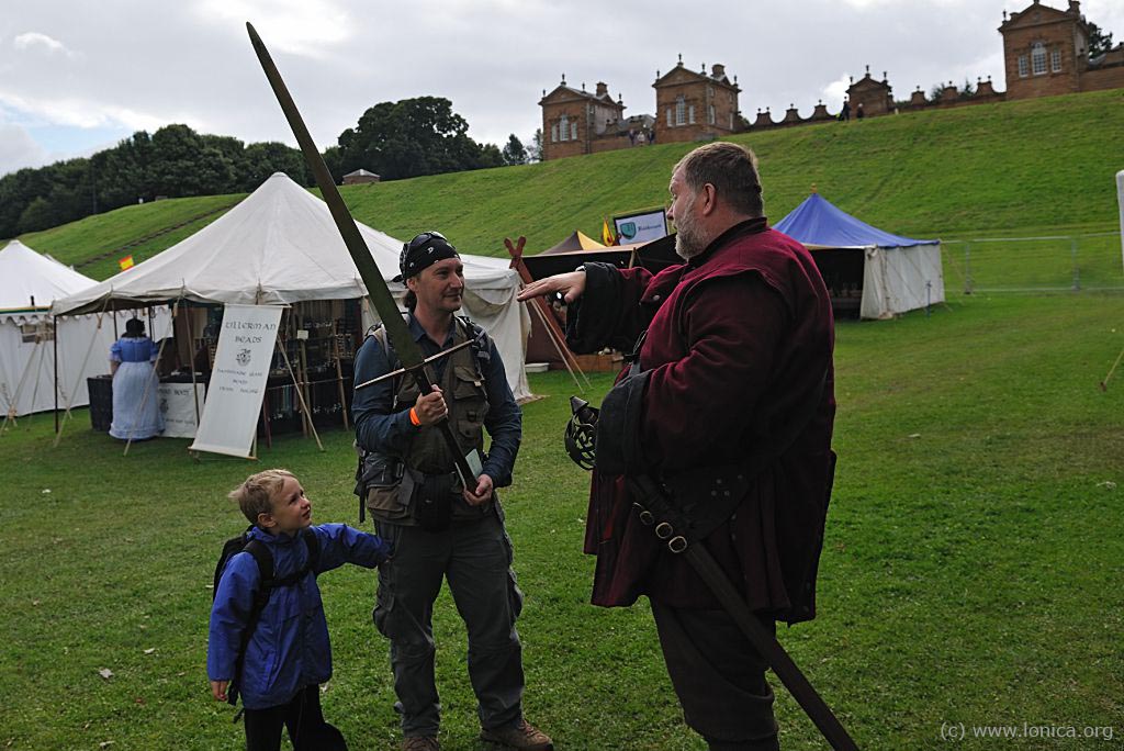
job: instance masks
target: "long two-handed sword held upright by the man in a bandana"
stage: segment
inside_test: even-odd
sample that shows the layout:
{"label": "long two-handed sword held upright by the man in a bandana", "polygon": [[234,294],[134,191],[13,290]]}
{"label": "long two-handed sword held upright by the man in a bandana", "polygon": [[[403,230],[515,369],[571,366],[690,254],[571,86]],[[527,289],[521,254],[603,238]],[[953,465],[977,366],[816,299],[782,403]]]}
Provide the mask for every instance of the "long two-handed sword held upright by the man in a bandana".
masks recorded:
{"label": "long two-handed sword held upright by the man in a bandana", "polygon": [[[336,190],[336,183],[332,179],[328,165],[324,163],[324,157],[320,156],[320,152],[316,148],[312,136],[309,135],[308,128],[305,126],[305,120],[297,110],[297,105],[289,94],[289,90],[285,88],[277,65],[273,64],[273,58],[270,57],[270,53],[262,43],[262,38],[257,36],[257,31],[254,30],[253,25],[248,21],[246,22],[246,30],[250,33],[250,40],[254,45],[257,61],[262,64],[262,70],[265,71],[265,78],[269,79],[270,85],[273,87],[273,93],[278,98],[278,103],[281,105],[281,111],[284,112],[285,119],[289,120],[289,127],[292,128],[292,134],[297,136],[297,143],[300,144],[300,151],[305,154],[305,161],[308,162],[309,169],[312,170],[316,184],[320,188],[320,196],[324,198],[324,202],[328,205],[332,218],[335,219],[336,228],[339,229],[339,235],[344,239],[344,245],[347,246],[347,252],[351,253],[352,261],[355,262],[355,268],[359,269],[359,275],[366,287],[368,298],[379,313],[382,325],[387,328],[387,337],[395,346],[395,353],[402,363],[402,371],[414,378],[422,393],[429,393],[433,390],[433,381],[429,379],[429,373],[426,370],[426,359],[422,354],[422,349],[418,347],[417,342],[410,336],[409,328],[407,328],[406,322],[402,320],[402,316],[398,310],[398,305],[390,295],[390,288],[387,287],[386,280],[379,273],[379,266],[374,263],[374,259],[371,257],[371,251],[363,241],[359,227],[355,226],[355,219],[352,217],[351,211],[347,210],[347,206],[339,196],[339,191]],[[446,350],[443,354],[447,354],[448,352],[451,351]],[[437,428],[453,452],[453,456],[455,456],[456,472],[461,477],[461,482],[465,488],[475,488],[475,480],[473,479],[475,478],[475,472],[469,467],[469,462],[464,458],[460,444],[456,442],[456,436],[453,435],[453,428],[448,424],[447,417],[442,418],[437,423]]]}

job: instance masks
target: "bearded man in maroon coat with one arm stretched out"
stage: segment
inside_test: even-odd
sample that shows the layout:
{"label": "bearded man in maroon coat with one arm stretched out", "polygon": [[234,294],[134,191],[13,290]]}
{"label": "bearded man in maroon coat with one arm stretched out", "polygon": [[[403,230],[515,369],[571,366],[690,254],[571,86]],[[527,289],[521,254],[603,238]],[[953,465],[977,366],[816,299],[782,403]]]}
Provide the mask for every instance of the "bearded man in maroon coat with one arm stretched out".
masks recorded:
{"label": "bearded man in maroon coat with one arm stretched out", "polygon": [[[701,544],[768,628],[813,618],[833,471],[831,302],[808,251],[769,228],[752,152],[700,146],[676,165],[670,191],[685,263],[656,275],[587,263],[520,299],[562,293],[578,352],[629,351],[646,331],[598,427],[592,601],[649,597],[687,723],[710,749],[777,749],[764,661],[691,565],[641,523],[625,476],[695,488],[678,500],[701,517],[722,501],[708,472],[744,467],[747,481]],[[629,407],[607,420],[610,401]]]}

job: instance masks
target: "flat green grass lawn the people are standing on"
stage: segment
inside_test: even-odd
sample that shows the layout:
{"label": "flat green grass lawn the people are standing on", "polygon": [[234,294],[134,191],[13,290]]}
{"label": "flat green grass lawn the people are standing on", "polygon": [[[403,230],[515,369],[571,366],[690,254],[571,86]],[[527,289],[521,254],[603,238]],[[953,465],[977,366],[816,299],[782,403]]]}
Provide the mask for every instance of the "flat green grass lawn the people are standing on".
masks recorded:
{"label": "flat green grass lawn the people are standing on", "polygon": [[[840,323],[835,495],[819,617],[780,639],[863,749],[944,745],[944,723],[1114,726],[1124,735],[1124,298],[950,295],[926,317]],[[597,376],[598,397],[608,387]],[[560,749],[701,749],[680,720],[646,605],[588,605],[588,476],[564,455],[565,373],[532,376],[516,485],[504,496],[526,591],[528,718]],[[596,400],[596,399],[595,399]],[[49,415],[0,435],[0,748],[237,748],[205,673],[211,572],[243,526],[225,494],[281,465],[318,522],[356,521],[351,435],[284,437],[261,462],[185,441],[127,456],[84,410],[52,449]],[[352,748],[398,741],[375,578],[320,579],[336,675],[327,716]],[[480,749],[463,627],[436,614],[443,741]],[[99,670],[112,671],[102,678]],[[778,688],[786,750],[824,748]],[[103,745],[112,742],[112,745]]]}

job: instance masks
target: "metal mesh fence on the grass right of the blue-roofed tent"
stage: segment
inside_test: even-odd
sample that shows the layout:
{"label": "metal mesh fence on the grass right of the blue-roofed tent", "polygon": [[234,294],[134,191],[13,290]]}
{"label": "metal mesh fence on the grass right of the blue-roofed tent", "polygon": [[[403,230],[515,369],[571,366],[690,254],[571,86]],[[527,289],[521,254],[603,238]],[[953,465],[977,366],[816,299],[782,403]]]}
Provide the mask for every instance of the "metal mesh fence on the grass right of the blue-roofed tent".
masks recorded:
{"label": "metal mesh fence on the grass right of the blue-roofed tent", "polygon": [[1118,232],[942,239],[941,252],[949,295],[1124,290]]}

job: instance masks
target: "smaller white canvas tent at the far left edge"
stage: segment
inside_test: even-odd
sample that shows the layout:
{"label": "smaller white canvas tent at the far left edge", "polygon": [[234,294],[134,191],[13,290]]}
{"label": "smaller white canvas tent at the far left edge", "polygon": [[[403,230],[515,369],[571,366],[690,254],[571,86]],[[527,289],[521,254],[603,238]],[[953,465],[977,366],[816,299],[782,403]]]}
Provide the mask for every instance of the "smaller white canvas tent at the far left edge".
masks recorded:
{"label": "smaller white canvas tent at the far left edge", "polygon": [[49,308],[94,284],[18,239],[0,251],[0,414],[55,408],[56,356],[58,406],[90,402],[85,379],[109,371],[112,319],[83,315],[52,322]]}

